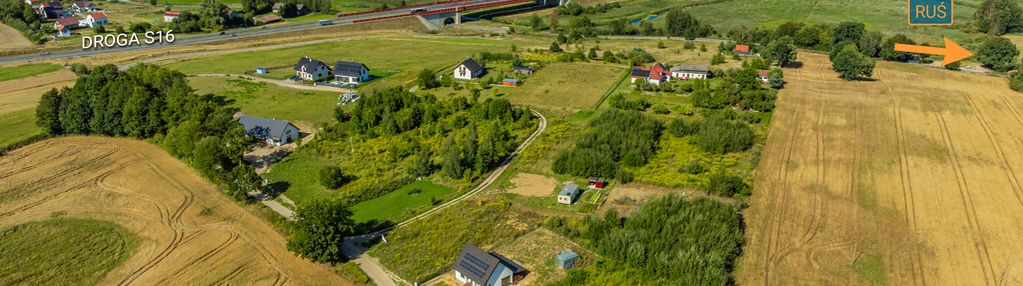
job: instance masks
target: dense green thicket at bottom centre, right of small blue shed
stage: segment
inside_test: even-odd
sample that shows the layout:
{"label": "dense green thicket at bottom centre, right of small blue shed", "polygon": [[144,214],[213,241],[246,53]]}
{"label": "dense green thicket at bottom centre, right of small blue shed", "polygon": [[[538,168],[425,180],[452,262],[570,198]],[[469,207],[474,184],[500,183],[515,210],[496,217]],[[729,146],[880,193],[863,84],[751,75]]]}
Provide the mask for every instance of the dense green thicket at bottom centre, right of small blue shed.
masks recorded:
{"label": "dense green thicket at bottom centre, right of small blue shed", "polygon": [[[582,225],[573,232],[577,238],[614,261],[570,271],[559,285],[592,285],[608,281],[608,273],[623,271],[632,272],[629,281],[652,284],[735,284],[731,272],[743,244],[742,220],[735,206],[667,195],[628,218],[612,209],[604,218],[585,219]],[[608,267],[616,263],[627,267]]]}

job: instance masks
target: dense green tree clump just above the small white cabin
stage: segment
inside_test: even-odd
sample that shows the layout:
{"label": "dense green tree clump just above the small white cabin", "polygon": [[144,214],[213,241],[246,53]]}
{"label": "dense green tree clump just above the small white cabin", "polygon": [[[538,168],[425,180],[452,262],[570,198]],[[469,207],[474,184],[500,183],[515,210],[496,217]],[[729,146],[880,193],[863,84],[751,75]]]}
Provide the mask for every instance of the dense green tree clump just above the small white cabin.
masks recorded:
{"label": "dense green tree clump just above the small white cabin", "polygon": [[621,166],[640,166],[657,152],[661,123],[639,111],[612,108],[590,123],[575,147],[558,154],[553,171],[631,181]]}

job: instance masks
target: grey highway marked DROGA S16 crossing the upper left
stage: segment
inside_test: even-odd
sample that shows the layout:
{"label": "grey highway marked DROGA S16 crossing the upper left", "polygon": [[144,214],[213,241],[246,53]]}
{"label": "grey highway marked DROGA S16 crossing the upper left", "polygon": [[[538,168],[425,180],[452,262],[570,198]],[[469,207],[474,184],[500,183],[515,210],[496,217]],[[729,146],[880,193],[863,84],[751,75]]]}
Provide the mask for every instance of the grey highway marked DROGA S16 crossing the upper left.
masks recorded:
{"label": "grey highway marked DROGA S16 crossing the upper left", "polygon": [[[457,8],[461,6],[470,6],[477,4],[488,4],[501,1],[503,0],[465,0],[458,2],[443,2],[437,4],[429,4],[419,6],[417,8],[424,8],[430,11],[430,10]],[[153,44],[153,45],[131,46],[124,48],[103,48],[103,49],[88,49],[88,50],[73,49],[73,50],[51,51],[46,54],[13,55],[13,56],[0,57],[0,63],[18,62],[18,61],[37,61],[37,60],[48,60],[48,59],[58,59],[58,58],[76,58],[76,57],[121,53],[127,51],[139,51],[139,50],[147,50],[155,48],[173,47],[173,46],[210,44],[210,43],[217,43],[217,42],[235,40],[241,38],[252,38],[252,37],[267,36],[280,33],[323,29],[332,26],[347,26],[347,25],[352,25],[359,20],[372,19],[379,17],[411,15],[409,13],[409,9],[410,8],[396,8],[391,10],[372,11],[355,15],[337,17],[333,19],[333,23],[330,26],[321,26],[318,21],[305,21],[305,22],[285,23],[272,27],[263,26],[263,27],[232,29],[224,31],[224,35],[219,35],[219,33],[209,33],[209,34],[202,34],[194,36],[184,35],[175,39],[174,43],[167,43],[167,44]],[[142,35],[139,35],[139,37],[142,38]]]}

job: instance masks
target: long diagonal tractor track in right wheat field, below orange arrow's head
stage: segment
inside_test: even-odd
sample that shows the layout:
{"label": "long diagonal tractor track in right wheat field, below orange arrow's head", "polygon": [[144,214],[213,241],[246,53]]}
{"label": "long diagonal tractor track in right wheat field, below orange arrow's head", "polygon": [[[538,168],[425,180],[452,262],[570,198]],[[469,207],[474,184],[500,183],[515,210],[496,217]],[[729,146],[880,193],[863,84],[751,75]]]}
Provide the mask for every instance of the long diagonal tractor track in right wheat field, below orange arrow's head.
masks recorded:
{"label": "long diagonal tractor track in right wheat field, below orange arrow's head", "polygon": [[955,181],[960,190],[960,199],[963,202],[963,208],[966,211],[967,222],[972,230],[971,239],[974,240],[974,249],[977,250],[977,259],[980,263],[981,272],[984,274],[984,285],[990,285],[991,280],[994,276],[994,269],[991,267],[991,257],[988,254],[987,244],[983,239],[983,228],[980,226],[980,221],[977,220],[977,209],[973,203],[973,196],[970,193],[970,188],[966,182],[966,175],[963,173],[963,164],[960,161],[959,153],[955,150],[955,146],[952,144],[951,134],[948,132],[948,126],[945,123],[945,118],[942,114],[937,113],[935,116],[938,120],[938,126],[941,127],[941,135],[944,137],[945,147],[948,148],[949,161],[951,162],[952,171],[955,174]]}

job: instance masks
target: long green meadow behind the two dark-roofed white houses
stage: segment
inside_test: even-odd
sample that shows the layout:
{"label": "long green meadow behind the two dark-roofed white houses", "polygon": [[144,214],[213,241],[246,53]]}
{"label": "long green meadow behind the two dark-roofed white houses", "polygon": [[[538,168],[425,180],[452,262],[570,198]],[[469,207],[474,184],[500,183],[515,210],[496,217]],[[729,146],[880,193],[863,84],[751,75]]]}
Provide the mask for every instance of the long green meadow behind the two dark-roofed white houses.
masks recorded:
{"label": "long green meadow behind the two dark-roofed white houses", "polygon": [[[299,58],[310,56],[333,65],[338,60],[365,63],[370,70],[389,70],[393,76],[374,80],[366,87],[402,85],[424,68],[454,65],[476,53],[506,52],[513,42],[494,39],[374,38],[344,40],[301,47],[216,55],[168,64],[185,74],[244,74],[256,67],[270,69],[269,78],[286,79]],[[372,72],[371,72],[372,73]],[[387,75],[384,75],[387,76]]]}

